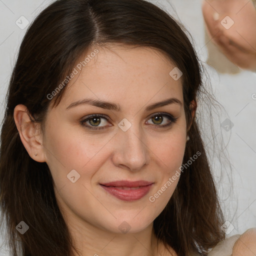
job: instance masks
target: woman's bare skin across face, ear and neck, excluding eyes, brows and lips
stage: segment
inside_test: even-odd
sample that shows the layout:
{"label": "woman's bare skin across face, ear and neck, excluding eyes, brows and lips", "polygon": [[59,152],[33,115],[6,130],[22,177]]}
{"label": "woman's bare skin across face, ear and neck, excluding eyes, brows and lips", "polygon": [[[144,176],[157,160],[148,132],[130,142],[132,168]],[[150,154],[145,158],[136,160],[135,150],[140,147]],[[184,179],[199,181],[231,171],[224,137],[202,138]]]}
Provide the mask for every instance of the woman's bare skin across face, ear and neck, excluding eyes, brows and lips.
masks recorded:
{"label": "woman's bare skin across face, ear and neck, excluding eyes, brows and lips", "polygon": [[[169,72],[175,65],[148,47],[112,44],[97,49],[96,57],[71,80],[59,105],[49,108],[44,133],[39,124],[31,123],[24,105],[15,107],[14,120],[21,141],[31,158],[49,166],[58,206],[81,255],[170,255],[163,251],[161,243],[156,250],[152,225],[178,178],[154,202],[149,201],[149,196],[182,164],[189,129],[183,108],[182,76],[172,79]],[[66,109],[87,97],[114,102],[121,110],[88,104]],[[171,103],[145,110],[149,104],[170,97],[179,99],[181,105]],[[191,103],[194,115],[196,103]],[[151,119],[156,112],[169,113],[177,120],[161,128],[169,119],[162,116],[162,123],[157,123]],[[80,120],[89,114],[109,117],[109,121],[102,118],[97,123],[105,128],[82,126]],[[123,118],[131,123],[125,132],[117,125]],[[80,174],[74,183],[67,178],[72,169]],[[154,184],[146,196],[131,202],[112,196],[99,185],[121,179]],[[130,226],[127,233],[118,228],[123,221]]]}

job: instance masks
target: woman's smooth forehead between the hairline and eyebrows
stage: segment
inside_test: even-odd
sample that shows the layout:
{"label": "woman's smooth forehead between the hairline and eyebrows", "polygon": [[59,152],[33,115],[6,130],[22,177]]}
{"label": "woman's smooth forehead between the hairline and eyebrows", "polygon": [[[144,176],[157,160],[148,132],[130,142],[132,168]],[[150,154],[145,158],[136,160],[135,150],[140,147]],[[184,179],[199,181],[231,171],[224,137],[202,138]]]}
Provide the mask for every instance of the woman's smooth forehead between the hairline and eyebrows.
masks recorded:
{"label": "woman's smooth forehead between the hairline and eyebrows", "polygon": [[108,45],[93,47],[77,59],[74,77],[60,101],[89,96],[118,102],[124,98],[146,103],[150,98],[178,97],[182,102],[181,78],[174,80],[170,71],[175,67],[161,51],[150,47]]}

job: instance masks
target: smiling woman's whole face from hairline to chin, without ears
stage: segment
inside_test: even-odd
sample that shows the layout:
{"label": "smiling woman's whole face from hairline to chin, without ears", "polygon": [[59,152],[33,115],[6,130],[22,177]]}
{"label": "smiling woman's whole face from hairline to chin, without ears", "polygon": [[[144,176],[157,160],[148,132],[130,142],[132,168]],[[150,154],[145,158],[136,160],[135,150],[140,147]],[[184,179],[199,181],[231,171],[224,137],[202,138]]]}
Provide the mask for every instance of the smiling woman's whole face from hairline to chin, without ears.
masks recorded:
{"label": "smiling woman's whole face from hairline to chin, without ears", "polygon": [[[81,71],[87,55],[77,61],[79,72],[49,110],[45,161],[67,219],[137,232],[159,215],[178,182],[186,143],[182,77],[175,69],[169,74],[175,66],[159,51],[110,46],[87,52]],[[119,180],[151,185],[102,185]]]}

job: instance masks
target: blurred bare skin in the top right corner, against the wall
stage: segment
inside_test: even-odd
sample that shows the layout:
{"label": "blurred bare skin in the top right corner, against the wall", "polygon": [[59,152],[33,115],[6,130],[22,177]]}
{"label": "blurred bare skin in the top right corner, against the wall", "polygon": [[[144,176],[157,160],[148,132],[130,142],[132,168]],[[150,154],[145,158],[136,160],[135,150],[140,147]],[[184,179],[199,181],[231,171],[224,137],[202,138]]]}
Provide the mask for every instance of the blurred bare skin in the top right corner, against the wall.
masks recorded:
{"label": "blurred bare skin in the top right corner, against the wall", "polygon": [[[226,57],[240,68],[256,71],[256,10],[250,0],[203,0],[207,32]],[[226,16],[233,20],[226,29]],[[231,19],[224,22],[231,24]]]}

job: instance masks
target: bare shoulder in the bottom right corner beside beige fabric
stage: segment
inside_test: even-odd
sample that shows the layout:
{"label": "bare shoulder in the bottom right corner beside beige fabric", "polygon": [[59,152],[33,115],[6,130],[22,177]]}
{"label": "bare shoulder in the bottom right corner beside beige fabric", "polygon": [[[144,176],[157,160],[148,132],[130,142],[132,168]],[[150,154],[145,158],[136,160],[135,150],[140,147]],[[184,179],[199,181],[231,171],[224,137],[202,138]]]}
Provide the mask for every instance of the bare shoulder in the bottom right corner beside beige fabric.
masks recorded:
{"label": "bare shoulder in the bottom right corner beside beige fabric", "polygon": [[233,246],[232,256],[256,255],[256,227],[246,230],[236,240]]}

